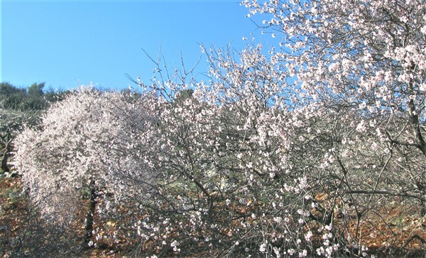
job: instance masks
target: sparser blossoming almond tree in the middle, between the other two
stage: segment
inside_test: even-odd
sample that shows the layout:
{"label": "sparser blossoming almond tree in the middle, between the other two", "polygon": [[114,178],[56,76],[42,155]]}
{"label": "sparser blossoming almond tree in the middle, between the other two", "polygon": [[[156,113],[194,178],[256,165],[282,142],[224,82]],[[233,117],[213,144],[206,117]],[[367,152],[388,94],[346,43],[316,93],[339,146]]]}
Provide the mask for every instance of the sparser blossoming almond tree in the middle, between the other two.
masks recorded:
{"label": "sparser blossoming almond tree in the middle, between the other two", "polygon": [[[149,106],[158,111],[159,128],[147,131],[161,136],[145,155],[156,157],[162,180],[138,233],[162,255],[170,249],[180,255],[196,249],[210,255],[315,253],[307,230],[315,206],[307,184],[311,168],[303,159],[327,151],[304,152],[298,145],[308,128],[303,120],[311,117],[280,101],[293,92],[259,47],[248,48],[241,62],[230,56],[212,56],[211,82],[177,76],[141,84],[158,96]],[[193,93],[180,97],[188,87]],[[321,252],[332,254],[339,248],[330,244],[327,223]]]}

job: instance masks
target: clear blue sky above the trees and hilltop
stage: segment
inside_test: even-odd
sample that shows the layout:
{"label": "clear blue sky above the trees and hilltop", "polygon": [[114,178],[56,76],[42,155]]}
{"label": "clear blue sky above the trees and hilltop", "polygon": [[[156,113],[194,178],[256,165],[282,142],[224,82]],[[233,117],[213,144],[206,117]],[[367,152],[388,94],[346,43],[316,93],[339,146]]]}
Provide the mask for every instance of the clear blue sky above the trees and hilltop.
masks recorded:
{"label": "clear blue sky above the trees and hilltop", "polygon": [[[155,65],[144,54],[161,53],[170,67],[201,55],[197,43],[237,50],[244,36],[262,37],[239,1],[1,1],[0,82],[53,89],[93,82],[107,89],[144,82]],[[264,18],[264,17],[263,17]],[[259,18],[259,21],[262,17]],[[202,57],[197,79],[207,71]],[[133,84],[132,84],[133,85]]]}

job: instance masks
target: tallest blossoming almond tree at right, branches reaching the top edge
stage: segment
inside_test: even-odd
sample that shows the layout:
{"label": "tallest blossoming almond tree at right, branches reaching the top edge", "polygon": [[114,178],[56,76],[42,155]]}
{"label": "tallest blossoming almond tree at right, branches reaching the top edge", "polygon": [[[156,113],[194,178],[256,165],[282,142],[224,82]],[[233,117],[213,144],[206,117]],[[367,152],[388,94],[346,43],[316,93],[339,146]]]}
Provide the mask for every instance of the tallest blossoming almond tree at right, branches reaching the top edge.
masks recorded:
{"label": "tallest blossoming almond tree at right, branches reaching the top edge", "polygon": [[280,35],[271,63],[288,74],[287,103],[311,106],[327,121],[305,140],[329,142],[317,179],[358,218],[388,196],[420,201],[424,215],[425,2],[242,4],[250,16],[268,17],[266,33]]}

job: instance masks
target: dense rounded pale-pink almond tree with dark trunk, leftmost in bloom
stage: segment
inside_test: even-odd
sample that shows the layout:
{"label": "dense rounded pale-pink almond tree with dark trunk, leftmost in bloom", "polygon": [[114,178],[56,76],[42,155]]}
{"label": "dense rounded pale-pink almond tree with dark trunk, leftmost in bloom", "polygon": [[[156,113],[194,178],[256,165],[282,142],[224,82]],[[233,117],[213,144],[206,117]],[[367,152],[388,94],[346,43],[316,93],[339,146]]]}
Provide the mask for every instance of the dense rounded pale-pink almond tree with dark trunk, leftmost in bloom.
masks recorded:
{"label": "dense rounded pale-pink almond tree with dark trunk, leftmost in bloom", "polygon": [[140,185],[135,188],[129,178],[148,182],[155,177],[148,175],[138,148],[139,132],[152,120],[143,110],[138,98],[82,87],[50,108],[38,128],[26,128],[16,140],[13,164],[48,220],[72,222],[86,192],[86,246],[92,241],[99,198],[142,195]]}

